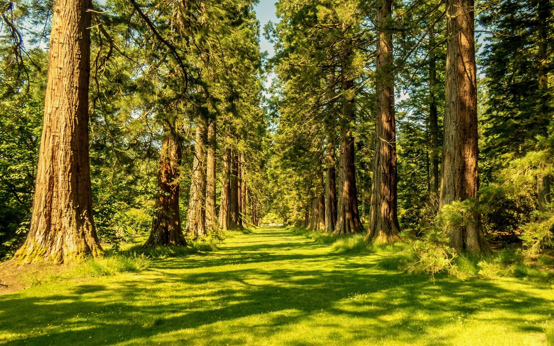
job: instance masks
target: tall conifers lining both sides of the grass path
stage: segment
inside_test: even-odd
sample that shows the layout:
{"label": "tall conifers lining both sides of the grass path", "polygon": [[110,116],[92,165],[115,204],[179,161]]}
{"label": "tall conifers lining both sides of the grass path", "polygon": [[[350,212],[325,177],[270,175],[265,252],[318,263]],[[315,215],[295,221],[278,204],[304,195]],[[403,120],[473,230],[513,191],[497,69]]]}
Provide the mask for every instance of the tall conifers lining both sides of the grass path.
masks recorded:
{"label": "tall conifers lining both sides of the grass path", "polygon": [[[285,224],[552,246],[550,0],[2,6],[0,259]],[[270,80],[271,85],[266,86]]]}

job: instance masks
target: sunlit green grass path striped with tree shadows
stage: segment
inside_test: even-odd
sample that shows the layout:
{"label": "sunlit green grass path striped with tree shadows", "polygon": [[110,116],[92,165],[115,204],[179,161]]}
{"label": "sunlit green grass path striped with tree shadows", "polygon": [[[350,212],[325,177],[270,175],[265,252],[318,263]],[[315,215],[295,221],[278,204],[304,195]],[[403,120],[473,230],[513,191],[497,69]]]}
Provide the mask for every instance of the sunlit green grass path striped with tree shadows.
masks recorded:
{"label": "sunlit green grass path striped with tree shadows", "polygon": [[407,275],[258,228],[141,273],[0,296],[9,345],[546,345],[554,291],[518,278]]}

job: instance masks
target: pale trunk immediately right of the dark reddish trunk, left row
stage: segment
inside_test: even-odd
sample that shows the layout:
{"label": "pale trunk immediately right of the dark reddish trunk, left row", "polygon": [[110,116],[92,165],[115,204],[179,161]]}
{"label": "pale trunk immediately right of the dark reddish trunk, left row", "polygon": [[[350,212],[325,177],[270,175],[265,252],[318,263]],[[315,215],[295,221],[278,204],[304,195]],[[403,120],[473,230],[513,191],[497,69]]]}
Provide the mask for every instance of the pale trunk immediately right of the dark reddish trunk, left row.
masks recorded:
{"label": "pale trunk immediately right of the dark reddish trunk, left row", "polygon": [[194,156],[192,158],[191,189],[188,197],[187,234],[195,238],[206,236],[206,118],[196,119]]}

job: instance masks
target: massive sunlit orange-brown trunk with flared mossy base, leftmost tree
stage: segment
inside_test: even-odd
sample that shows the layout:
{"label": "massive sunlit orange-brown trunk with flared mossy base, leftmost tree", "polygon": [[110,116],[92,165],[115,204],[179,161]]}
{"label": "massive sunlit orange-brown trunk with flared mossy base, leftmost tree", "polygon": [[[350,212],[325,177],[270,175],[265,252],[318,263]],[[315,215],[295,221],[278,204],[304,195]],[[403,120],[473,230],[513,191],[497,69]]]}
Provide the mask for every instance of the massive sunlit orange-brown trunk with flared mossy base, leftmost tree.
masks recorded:
{"label": "massive sunlit orange-brown trunk with flared mossy base, leftmost tree", "polygon": [[56,1],[33,215],[20,263],[99,256],[90,186],[90,0]]}

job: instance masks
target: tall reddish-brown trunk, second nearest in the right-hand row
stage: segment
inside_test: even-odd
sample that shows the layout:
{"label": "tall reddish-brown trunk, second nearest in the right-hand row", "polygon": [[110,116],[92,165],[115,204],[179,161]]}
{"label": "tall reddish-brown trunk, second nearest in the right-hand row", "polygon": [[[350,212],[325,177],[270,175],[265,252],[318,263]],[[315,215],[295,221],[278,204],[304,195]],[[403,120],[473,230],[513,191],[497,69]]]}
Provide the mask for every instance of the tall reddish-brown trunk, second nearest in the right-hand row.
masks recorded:
{"label": "tall reddish-brown trunk, second nearest in the right-hand row", "polygon": [[377,107],[370,225],[365,239],[396,241],[400,231],[396,193],[396,128],[391,0],[381,0],[377,11]]}

